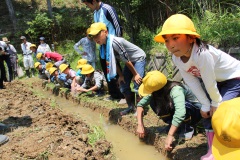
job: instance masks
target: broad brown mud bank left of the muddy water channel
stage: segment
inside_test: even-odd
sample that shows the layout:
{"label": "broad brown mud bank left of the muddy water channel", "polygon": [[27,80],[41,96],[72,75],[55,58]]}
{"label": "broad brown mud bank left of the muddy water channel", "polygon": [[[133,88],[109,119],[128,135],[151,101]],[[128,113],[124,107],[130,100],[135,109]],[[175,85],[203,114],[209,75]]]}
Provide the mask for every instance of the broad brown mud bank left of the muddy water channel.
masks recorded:
{"label": "broad brown mud bank left of the muddy water channel", "polygon": [[39,97],[35,93],[39,88],[29,80],[5,85],[0,90],[0,121],[11,127],[0,133],[9,137],[0,146],[0,159],[113,159],[110,142],[100,140],[91,146],[88,124]]}

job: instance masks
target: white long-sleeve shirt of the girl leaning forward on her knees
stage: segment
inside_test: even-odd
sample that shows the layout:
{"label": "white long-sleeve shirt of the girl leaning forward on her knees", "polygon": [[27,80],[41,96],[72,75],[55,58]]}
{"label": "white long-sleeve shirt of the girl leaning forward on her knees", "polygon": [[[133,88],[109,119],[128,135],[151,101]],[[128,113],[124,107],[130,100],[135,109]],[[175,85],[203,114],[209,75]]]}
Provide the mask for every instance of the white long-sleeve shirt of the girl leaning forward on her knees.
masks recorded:
{"label": "white long-sleeve shirt of the girl leaning forward on her knees", "polygon": [[[174,64],[198,100],[202,103],[202,111],[209,111],[210,105],[218,107],[222,96],[217,88],[217,82],[240,77],[240,61],[225,52],[208,45],[209,49],[194,44],[188,62],[182,62],[180,57],[173,55]],[[212,102],[207,98],[201,83],[201,78]]]}

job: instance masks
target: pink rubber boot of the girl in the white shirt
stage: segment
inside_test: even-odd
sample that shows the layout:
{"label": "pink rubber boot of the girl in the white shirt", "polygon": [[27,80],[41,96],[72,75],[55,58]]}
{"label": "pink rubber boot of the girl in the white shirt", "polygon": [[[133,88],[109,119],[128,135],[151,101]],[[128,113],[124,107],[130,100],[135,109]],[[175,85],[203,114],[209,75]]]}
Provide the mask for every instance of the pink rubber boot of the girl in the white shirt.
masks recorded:
{"label": "pink rubber boot of the girl in the white shirt", "polygon": [[212,154],[212,141],[214,137],[214,132],[211,130],[206,130],[207,134],[207,141],[208,141],[208,152],[204,156],[201,157],[201,160],[214,160],[213,154]]}

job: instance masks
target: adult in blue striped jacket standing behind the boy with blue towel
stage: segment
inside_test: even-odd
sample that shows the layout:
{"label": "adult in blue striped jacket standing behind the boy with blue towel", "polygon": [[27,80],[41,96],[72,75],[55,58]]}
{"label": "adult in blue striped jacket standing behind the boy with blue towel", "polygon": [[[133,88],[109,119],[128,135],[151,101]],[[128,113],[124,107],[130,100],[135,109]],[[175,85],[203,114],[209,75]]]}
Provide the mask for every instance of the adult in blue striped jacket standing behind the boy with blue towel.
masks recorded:
{"label": "adult in blue striped jacket standing behind the boy with blue towel", "polygon": [[[109,34],[115,35],[118,37],[122,36],[122,27],[117,15],[116,10],[100,0],[82,0],[82,2],[88,6],[92,11],[94,11],[94,22],[103,22],[106,24]],[[107,65],[106,65],[106,55],[103,51],[106,48],[106,45],[100,46],[100,64],[104,72],[105,78],[107,80]],[[120,67],[120,64],[117,64]],[[111,95],[110,98],[121,99],[124,96],[121,94],[120,89],[117,85],[118,75],[115,78],[112,78],[110,81],[107,80],[108,91]]]}

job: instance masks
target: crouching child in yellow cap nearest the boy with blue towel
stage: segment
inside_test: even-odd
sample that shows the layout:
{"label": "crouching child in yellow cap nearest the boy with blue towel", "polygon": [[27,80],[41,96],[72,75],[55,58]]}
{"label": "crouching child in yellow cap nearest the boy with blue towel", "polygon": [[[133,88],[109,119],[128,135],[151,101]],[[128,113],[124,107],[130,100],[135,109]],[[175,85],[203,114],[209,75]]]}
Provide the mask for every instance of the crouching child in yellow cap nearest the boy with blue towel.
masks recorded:
{"label": "crouching child in yellow cap nearest the boy with blue towel", "polygon": [[82,67],[81,74],[85,75],[85,80],[83,85],[77,88],[77,91],[95,91],[97,94],[101,94],[103,89],[103,75],[100,72],[95,71],[90,64],[85,64]]}

